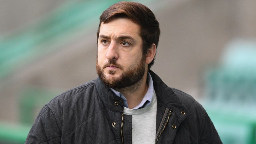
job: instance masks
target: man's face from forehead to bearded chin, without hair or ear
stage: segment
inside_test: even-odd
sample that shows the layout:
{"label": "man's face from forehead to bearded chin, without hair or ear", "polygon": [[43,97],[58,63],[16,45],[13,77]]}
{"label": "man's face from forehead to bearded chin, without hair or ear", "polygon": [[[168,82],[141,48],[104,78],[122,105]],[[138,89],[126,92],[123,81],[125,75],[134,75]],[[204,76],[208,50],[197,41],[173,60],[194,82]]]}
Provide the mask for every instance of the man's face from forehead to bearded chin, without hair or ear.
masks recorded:
{"label": "man's face from forehead to bearded chin, without hair or ear", "polygon": [[127,18],[101,23],[96,70],[106,85],[124,88],[143,77],[145,57],[139,34],[139,25]]}

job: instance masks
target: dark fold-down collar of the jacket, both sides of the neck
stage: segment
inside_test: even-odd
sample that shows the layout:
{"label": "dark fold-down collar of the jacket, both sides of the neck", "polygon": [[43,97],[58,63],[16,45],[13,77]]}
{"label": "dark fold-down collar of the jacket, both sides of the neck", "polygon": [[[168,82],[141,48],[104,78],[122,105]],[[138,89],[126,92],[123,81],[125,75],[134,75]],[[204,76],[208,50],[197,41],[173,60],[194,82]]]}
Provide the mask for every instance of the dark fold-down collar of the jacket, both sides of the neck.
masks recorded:
{"label": "dark fold-down collar of the jacket, both sides of the neck", "polygon": [[[153,79],[154,90],[156,92],[158,103],[161,103],[176,115],[184,118],[181,111],[186,111],[185,105],[181,102],[173,90],[161,80],[161,78],[159,78],[151,70],[149,70],[149,73]],[[96,79],[96,89],[105,107],[113,111],[123,112],[124,100],[116,96],[99,77]],[[118,105],[115,105],[115,102],[118,102]]]}

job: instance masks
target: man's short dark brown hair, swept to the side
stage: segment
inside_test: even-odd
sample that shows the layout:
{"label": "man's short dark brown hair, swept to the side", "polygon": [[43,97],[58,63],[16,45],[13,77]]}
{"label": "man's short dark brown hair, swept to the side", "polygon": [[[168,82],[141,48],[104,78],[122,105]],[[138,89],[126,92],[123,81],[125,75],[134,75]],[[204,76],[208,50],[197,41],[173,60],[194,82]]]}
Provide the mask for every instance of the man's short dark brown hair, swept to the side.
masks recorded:
{"label": "man's short dark brown hair, swept to the side", "polygon": [[[158,45],[160,28],[153,12],[146,6],[137,2],[118,2],[107,8],[100,16],[100,24],[97,32],[97,42],[101,23],[108,23],[115,18],[129,18],[140,26],[140,36],[143,44],[143,54],[155,43]],[[155,58],[148,65],[148,70],[154,64]]]}

